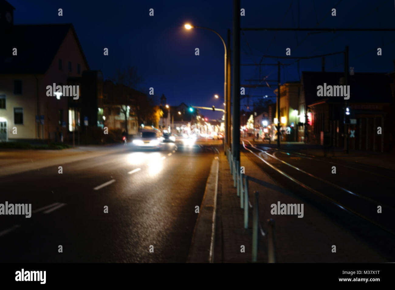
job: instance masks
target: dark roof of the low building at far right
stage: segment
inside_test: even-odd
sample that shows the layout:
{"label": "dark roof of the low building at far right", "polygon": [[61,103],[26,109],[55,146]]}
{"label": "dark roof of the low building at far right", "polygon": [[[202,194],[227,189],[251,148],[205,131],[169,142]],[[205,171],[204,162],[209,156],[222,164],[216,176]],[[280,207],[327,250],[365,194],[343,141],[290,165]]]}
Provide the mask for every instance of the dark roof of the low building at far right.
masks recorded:
{"label": "dark roof of the low building at far right", "polygon": [[[343,72],[303,71],[302,81],[305,90],[305,101],[311,105],[328,97],[317,96],[317,86],[338,86],[344,77]],[[348,77],[350,99],[352,103],[389,103],[392,101],[390,83],[393,80],[386,73],[355,73]],[[342,102],[342,97],[329,97],[329,101]]]}

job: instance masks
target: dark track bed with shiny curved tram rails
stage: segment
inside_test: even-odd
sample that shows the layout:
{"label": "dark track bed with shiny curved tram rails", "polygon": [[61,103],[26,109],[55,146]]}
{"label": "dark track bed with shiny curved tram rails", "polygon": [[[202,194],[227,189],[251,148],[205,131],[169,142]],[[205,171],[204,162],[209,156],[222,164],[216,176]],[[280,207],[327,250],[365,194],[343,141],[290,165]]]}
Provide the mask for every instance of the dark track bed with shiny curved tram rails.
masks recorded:
{"label": "dark track bed with shiny curved tram rails", "polygon": [[[395,172],[278,151],[264,145],[246,148],[251,150],[243,149],[248,157],[288,190],[314,204],[372,247],[395,258]],[[333,166],[336,173],[332,173]],[[382,213],[378,213],[378,206]]]}

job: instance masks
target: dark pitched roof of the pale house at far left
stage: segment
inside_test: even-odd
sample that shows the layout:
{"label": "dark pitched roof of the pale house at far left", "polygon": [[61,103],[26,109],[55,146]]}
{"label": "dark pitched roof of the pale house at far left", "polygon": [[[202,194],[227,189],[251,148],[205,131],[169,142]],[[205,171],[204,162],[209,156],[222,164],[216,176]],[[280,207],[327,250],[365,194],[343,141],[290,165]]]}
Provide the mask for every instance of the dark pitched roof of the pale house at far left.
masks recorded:
{"label": "dark pitched roof of the pale house at far left", "polygon": [[[28,24],[14,25],[0,35],[0,73],[45,73],[70,29],[89,69],[73,24]],[[14,47],[17,56],[12,55]]]}

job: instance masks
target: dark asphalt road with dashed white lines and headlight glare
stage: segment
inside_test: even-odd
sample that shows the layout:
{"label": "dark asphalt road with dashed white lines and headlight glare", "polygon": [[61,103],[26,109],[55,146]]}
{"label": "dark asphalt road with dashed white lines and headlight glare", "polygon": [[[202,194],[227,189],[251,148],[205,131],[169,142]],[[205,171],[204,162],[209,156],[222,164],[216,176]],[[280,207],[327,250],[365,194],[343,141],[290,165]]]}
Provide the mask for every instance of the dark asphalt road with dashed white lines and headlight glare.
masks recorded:
{"label": "dark asphalt road with dashed white lines and headlight glare", "polygon": [[185,262],[214,154],[167,145],[2,178],[0,203],[33,213],[1,216],[0,262]]}

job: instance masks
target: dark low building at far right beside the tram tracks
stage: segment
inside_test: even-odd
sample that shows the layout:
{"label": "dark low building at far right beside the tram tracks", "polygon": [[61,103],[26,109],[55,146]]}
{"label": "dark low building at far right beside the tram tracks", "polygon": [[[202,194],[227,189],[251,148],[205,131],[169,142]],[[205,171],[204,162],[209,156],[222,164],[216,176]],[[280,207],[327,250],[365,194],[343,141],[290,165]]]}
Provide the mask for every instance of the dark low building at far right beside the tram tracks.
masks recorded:
{"label": "dark low building at far right beside the tram tracks", "polygon": [[[393,78],[385,73],[355,73],[348,77],[350,99],[344,126],[343,96],[317,96],[318,86],[344,85],[343,72],[303,72],[299,112],[309,125],[299,131],[307,142],[343,147],[344,135],[350,136],[349,148],[387,152],[393,148]],[[349,120],[348,120],[349,119]],[[300,122],[304,123],[301,118]],[[382,134],[378,134],[381,127]]]}

